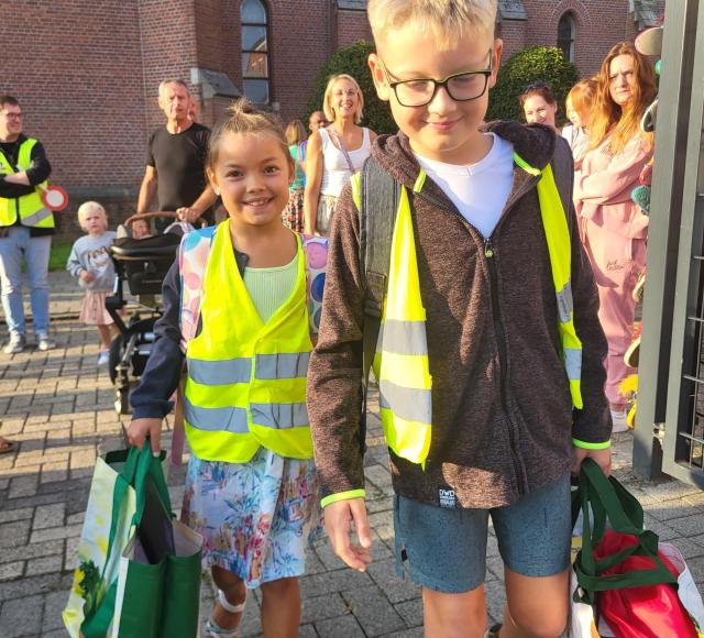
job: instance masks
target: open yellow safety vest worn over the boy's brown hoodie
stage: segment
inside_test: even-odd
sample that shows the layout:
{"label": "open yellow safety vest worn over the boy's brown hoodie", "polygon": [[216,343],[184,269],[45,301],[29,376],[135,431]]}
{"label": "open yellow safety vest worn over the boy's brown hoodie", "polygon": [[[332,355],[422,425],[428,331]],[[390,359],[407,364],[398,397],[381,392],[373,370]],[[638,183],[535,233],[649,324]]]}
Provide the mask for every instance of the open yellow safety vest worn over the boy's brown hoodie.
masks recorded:
{"label": "open yellow safety vest worn over the boy's brown hoodie", "polygon": [[[572,321],[571,238],[564,209],[550,165],[539,170],[517,154],[514,160],[528,173],[541,175],[538,197],[558,299],[563,363],[572,404],[581,409],[582,344]],[[421,169],[414,193],[422,189],[425,180],[426,173]],[[358,208],[360,186],[360,174],[356,174],[352,177],[352,194]],[[372,240],[367,238],[367,241]],[[432,430],[432,377],[410,204],[404,186],[394,224],[388,286],[373,367],[380,384],[380,413],[386,443],[397,457],[425,468]]]}

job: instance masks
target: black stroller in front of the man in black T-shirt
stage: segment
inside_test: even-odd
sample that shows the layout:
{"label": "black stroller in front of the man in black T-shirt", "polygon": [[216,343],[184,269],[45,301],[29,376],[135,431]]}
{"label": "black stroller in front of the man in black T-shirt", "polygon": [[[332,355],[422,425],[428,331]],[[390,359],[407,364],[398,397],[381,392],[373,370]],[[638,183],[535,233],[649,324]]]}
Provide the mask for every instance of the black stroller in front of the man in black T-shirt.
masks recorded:
{"label": "black stroller in front of the man in black T-shirt", "polygon": [[[145,235],[142,229],[133,232],[132,224],[135,221],[156,217],[176,218],[176,213],[132,216],[118,227],[117,239],[110,246],[116,279],[113,294],[106,299],[106,308],[120,332],[110,345],[109,371],[116,391],[114,408],[122,415],[130,410],[131,383],[139,380],[144,371],[154,342],[154,322],[161,316],[158,295],[162,283],[174,262],[180,238],[194,228],[189,223],[175,221],[162,234]],[[127,320],[121,312],[128,305],[125,283],[127,292],[136,297],[139,304],[139,308]]]}

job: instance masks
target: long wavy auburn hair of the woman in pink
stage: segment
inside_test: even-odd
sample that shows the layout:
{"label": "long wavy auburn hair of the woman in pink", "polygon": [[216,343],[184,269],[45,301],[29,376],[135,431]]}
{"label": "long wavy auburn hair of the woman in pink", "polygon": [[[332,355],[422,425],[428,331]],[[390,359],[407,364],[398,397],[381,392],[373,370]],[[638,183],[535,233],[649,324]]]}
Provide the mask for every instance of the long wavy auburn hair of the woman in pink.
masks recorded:
{"label": "long wavy auburn hair of the woman in pink", "polygon": [[[619,55],[629,55],[634,61],[634,97],[622,109],[610,94],[610,66]],[[590,118],[590,148],[603,144],[608,138],[608,150],[614,155],[624,150],[635,136],[652,145],[652,133],[640,130],[645,110],[656,98],[656,76],[650,61],[638,53],[632,42],[619,42],[606,54],[602,68],[596,74],[596,98]]]}

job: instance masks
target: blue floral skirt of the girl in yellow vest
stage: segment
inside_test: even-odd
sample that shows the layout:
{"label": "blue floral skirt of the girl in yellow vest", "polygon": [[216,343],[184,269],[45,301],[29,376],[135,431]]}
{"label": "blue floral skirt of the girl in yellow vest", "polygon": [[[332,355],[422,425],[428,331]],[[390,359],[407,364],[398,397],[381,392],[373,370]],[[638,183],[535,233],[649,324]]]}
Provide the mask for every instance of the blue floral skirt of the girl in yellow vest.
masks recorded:
{"label": "blue floral skirt of the girl in yellow vest", "polygon": [[204,569],[218,565],[250,588],[300,576],[322,531],[312,459],[265,448],[249,463],[191,457],[182,520],[204,537]]}

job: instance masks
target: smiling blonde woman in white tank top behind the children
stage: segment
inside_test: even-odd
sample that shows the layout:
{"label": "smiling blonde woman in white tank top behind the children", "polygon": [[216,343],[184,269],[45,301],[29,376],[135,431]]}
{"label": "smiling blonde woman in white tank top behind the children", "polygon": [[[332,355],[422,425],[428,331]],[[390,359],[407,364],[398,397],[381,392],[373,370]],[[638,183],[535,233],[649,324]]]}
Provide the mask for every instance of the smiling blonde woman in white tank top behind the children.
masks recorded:
{"label": "smiling blonde woman in white tank top behind the children", "polygon": [[362,168],[376,133],[359,125],[364,98],[356,80],[346,74],[332,76],[322,98],[328,128],[308,140],[304,220],[306,233],[328,234],[342,187]]}

